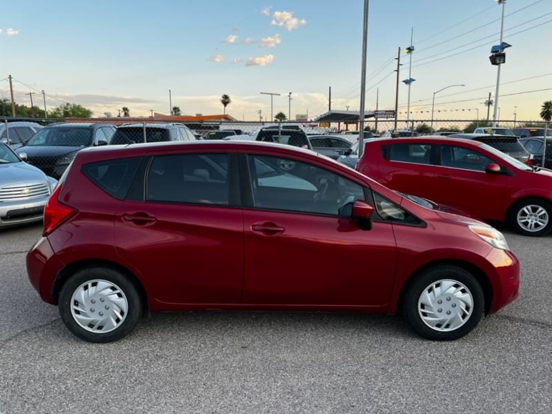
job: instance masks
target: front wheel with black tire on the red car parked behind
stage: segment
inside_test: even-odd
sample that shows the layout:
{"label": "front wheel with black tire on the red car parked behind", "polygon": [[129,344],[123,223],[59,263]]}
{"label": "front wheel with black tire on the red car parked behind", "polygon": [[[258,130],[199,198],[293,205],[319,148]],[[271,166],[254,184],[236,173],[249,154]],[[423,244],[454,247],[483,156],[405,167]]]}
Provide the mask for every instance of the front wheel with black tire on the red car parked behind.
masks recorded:
{"label": "front wheel with black tire on the red car parked behind", "polygon": [[[526,226],[520,224],[518,217],[530,220],[531,217],[528,217],[530,213],[541,213],[535,216],[535,218],[546,220],[546,224],[538,226],[537,222],[535,224],[538,227],[533,230],[529,228],[531,226],[530,221],[526,221]],[[552,230],[552,204],[550,204],[549,201],[536,197],[517,201],[509,210],[508,222],[513,230],[520,235],[533,237],[544,236]]]}

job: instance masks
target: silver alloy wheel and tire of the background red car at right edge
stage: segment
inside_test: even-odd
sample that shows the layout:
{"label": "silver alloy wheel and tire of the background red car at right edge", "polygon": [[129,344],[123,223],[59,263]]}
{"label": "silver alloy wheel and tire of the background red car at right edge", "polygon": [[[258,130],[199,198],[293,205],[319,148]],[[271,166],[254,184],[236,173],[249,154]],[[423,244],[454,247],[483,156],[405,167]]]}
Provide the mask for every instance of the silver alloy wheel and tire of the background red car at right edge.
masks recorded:
{"label": "silver alloy wheel and tire of the background red car at right edge", "polygon": [[509,221],[517,233],[542,236],[552,230],[552,206],[542,199],[518,201],[510,211]]}

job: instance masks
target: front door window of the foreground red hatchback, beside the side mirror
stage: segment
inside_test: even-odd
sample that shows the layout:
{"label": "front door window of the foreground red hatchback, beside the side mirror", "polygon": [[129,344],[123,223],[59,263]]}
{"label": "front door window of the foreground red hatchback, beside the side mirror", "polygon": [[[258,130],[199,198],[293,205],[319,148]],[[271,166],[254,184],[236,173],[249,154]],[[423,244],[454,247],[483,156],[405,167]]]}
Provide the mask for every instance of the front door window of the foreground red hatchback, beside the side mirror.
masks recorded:
{"label": "front door window of the foreground red hatchback, beside the side mirror", "polygon": [[249,169],[255,208],[339,215],[346,204],[364,199],[359,184],[311,164],[250,155]]}

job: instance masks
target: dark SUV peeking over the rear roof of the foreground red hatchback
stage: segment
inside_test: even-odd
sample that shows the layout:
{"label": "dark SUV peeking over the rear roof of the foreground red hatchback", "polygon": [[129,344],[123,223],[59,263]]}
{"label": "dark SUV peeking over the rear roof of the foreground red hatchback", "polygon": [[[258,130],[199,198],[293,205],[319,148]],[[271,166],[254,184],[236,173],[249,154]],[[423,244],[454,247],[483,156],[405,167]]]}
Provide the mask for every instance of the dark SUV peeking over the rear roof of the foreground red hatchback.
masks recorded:
{"label": "dark SUV peeking over the rear roof of the foreground red hatchback", "polygon": [[124,124],[117,127],[111,145],[137,142],[195,141],[194,133],[184,124]]}

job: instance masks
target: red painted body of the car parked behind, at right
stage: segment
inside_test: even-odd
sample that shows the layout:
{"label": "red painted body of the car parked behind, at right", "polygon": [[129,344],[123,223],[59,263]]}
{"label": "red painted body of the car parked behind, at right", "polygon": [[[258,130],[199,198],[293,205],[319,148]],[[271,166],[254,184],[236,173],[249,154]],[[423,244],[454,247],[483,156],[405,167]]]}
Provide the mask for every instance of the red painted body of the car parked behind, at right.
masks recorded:
{"label": "red painted body of the car parked behind, at right", "polygon": [[[397,143],[469,148],[481,152],[512,174],[499,175],[384,159],[382,146]],[[482,143],[466,139],[415,137],[369,141],[364,156],[359,159],[357,170],[393,190],[431,199],[486,220],[505,221],[509,207],[522,198],[540,197],[552,202],[551,171],[520,170],[482,148]]]}

